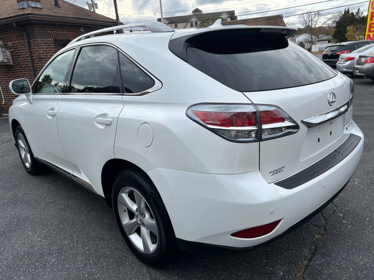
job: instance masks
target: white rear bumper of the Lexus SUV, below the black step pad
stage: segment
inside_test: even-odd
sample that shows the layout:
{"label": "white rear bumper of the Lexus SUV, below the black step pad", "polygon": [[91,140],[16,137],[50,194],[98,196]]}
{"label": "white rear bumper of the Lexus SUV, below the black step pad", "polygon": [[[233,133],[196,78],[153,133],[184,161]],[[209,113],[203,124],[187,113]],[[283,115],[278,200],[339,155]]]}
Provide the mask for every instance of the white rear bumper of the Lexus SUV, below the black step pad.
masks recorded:
{"label": "white rear bumper of the Lexus SUV, below the black step pad", "polygon": [[[260,171],[243,174],[161,168],[149,171],[168,210],[178,245],[190,248],[189,251],[201,251],[198,248],[210,245],[238,250],[256,248],[312,218],[341,191],[358,165],[364,136],[354,122],[351,127],[350,133],[361,137],[355,149],[328,171],[294,189],[277,186],[276,182],[267,183]],[[281,222],[265,236],[252,239],[230,236],[276,220]]]}

